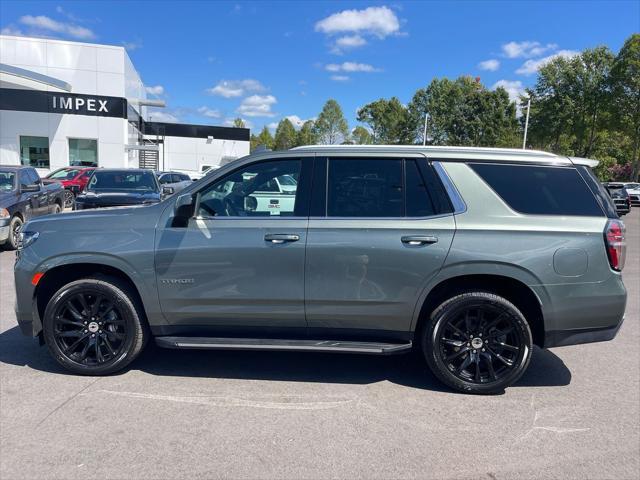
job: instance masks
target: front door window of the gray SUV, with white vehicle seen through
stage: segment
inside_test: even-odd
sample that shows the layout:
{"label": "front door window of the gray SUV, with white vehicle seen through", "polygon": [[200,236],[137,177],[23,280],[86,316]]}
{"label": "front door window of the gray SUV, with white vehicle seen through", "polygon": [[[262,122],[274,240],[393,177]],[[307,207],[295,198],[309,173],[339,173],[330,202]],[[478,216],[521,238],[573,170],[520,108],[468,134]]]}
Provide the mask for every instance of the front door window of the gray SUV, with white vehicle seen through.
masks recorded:
{"label": "front door window of the gray SUV, with white vehicle seen through", "polygon": [[213,182],[200,193],[200,217],[294,216],[300,201],[297,181],[280,191],[277,178],[300,177],[301,160],[249,165]]}

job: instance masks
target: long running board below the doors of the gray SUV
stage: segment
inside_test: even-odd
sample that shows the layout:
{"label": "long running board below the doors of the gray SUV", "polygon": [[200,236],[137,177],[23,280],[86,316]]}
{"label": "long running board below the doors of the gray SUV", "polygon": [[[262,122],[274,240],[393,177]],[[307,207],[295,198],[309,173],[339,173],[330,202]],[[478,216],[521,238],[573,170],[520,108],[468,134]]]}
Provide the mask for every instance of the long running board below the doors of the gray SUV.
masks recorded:
{"label": "long running board below the doors of the gray SUV", "polygon": [[162,348],[201,350],[288,350],[390,355],[411,350],[408,343],[352,342],[339,340],[276,340],[258,338],[156,337]]}

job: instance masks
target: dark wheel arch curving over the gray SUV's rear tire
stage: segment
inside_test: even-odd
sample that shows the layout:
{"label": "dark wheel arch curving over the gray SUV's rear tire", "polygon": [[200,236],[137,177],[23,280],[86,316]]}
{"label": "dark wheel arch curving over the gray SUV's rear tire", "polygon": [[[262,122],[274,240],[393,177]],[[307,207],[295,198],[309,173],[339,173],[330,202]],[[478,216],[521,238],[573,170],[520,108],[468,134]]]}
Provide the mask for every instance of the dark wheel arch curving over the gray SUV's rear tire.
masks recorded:
{"label": "dark wheel arch curving over the gray SUV's rear tire", "polygon": [[541,301],[536,293],[520,279],[488,273],[451,276],[435,284],[416,310],[414,338],[420,338],[420,332],[427,323],[429,315],[442,302],[454,295],[471,291],[494,293],[513,303],[527,319],[533,343],[540,347],[544,346],[544,314]]}

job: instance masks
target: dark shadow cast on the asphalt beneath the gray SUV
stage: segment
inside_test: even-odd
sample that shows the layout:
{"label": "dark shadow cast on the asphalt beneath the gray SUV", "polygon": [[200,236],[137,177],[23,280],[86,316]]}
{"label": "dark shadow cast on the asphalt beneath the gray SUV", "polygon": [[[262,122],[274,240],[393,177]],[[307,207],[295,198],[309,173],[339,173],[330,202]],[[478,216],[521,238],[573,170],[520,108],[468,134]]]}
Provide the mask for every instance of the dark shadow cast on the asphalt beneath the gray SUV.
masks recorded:
{"label": "dark shadow cast on the asphalt beneath the gray SUV", "polygon": [[[69,373],[46,347],[18,327],[0,333],[0,362],[61,375]],[[149,343],[128,370],[157,376],[245,380],[370,384],[387,380],[411,388],[449,392],[416,354],[374,356],[299,352],[168,350]],[[535,348],[531,364],[516,387],[565,386],[571,372],[549,350]]]}

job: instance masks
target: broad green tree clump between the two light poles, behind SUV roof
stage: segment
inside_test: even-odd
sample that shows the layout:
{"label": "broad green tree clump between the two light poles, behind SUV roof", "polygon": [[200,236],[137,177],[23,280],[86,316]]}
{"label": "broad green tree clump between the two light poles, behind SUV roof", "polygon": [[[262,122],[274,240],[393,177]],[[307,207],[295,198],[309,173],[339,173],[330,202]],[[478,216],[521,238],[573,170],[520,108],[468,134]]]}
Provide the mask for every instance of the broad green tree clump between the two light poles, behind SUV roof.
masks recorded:
{"label": "broad green tree clump between the two light poles, behind SUV roof", "polygon": [[422,142],[424,116],[433,145],[515,147],[518,122],[515,102],[504,88],[488,90],[471,77],[434,79],[418,90],[408,106],[408,129]]}

